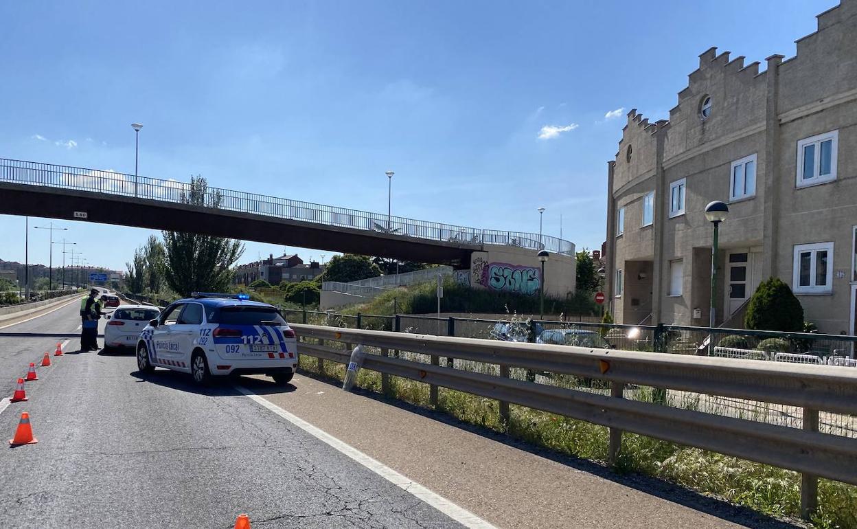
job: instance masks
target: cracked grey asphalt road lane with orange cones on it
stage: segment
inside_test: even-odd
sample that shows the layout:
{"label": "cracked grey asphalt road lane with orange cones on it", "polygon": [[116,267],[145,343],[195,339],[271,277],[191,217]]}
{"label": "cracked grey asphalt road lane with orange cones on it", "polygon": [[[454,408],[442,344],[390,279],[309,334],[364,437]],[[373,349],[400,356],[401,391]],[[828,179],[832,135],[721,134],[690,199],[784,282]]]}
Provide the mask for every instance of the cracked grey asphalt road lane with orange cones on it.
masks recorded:
{"label": "cracked grey asphalt road lane with orange cones on it", "polygon": [[[75,302],[0,332],[74,332],[77,312]],[[56,341],[0,337],[0,395]],[[240,513],[254,527],[460,526],[230,385],[141,376],[130,354],[78,345],[38,369],[29,401],[0,412],[3,440],[22,411],[39,439],[0,447],[0,526],[232,527]]]}

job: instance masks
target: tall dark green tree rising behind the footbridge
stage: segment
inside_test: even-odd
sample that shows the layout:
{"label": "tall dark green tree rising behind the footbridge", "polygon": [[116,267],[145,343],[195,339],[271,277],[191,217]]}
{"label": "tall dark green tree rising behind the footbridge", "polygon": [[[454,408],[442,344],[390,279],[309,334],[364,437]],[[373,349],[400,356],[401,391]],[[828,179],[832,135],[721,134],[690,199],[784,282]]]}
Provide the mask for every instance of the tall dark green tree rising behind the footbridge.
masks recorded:
{"label": "tall dark green tree rising behind the footbridge", "polygon": [[[180,200],[192,206],[219,207],[223,197],[208,191],[201,176],[191,177]],[[183,231],[164,231],[164,277],[180,295],[191,292],[225,292],[232,280],[232,266],[244,253],[241,241]]]}

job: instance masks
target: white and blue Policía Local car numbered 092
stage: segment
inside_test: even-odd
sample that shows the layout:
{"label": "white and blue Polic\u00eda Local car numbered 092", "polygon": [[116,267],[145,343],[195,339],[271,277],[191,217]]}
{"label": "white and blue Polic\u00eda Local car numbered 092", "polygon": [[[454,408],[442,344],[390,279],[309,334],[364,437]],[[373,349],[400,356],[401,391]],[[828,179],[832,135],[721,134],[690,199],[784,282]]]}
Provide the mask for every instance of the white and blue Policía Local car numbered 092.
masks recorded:
{"label": "white and blue Polic\u00eda Local car numbered 092", "polygon": [[137,367],[190,373],[198,383],[212,376],[267,375],[291,381],[297,370],[295,332],[276,307],[246,294],[195,292],[149,322],[137,342]]}

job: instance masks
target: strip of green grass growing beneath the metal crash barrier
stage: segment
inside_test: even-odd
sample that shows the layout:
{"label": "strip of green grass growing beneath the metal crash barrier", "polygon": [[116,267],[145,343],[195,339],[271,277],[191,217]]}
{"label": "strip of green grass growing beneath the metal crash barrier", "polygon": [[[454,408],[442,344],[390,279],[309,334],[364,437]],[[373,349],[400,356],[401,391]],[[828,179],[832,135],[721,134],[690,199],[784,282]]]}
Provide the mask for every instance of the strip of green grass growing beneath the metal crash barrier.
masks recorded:
{"label": "strip of green grass growing beneath the metal crash barrier", "polygon": [[[344,365],[326,361],[324,366],[321,375],[343,380]],[[319,373],[316,358],[306,355],[300,358],[300,368]],[[391,396],[431,407],[428,384],[396,376],[390,380]],[[381,393],[381,374],[360,370],[357,386]],[[641,388],[638,399],[656,400],[655,391]],[[692,403],[685,404],[682,407],[694,407]],[[607,464],[608,428],[598,424],[516,405],[509,406],[510,417],[505,424],[496,400],[446,388],[440,388],[438,408],[466,423],[561,454]],[[773,466],[625,433],[613,469],[661,478],[777,518],[796,520],[800,515],[800,474]],[[857,529],[857,486],[819,479],[818,511],[811,523],[819,529]]]}

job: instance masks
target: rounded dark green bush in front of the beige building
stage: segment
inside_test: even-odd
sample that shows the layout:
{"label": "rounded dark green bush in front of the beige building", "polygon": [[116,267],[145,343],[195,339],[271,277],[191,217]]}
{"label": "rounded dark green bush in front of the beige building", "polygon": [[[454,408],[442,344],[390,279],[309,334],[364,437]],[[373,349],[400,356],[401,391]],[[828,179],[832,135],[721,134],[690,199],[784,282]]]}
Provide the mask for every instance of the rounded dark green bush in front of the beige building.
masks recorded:
{"label": "rounded dark green bush in front of the beige building", "polygon": [[744,326],[765,331],[803,331],[803,307],[780,278],[762,281],[750,298]]}

